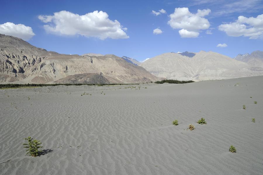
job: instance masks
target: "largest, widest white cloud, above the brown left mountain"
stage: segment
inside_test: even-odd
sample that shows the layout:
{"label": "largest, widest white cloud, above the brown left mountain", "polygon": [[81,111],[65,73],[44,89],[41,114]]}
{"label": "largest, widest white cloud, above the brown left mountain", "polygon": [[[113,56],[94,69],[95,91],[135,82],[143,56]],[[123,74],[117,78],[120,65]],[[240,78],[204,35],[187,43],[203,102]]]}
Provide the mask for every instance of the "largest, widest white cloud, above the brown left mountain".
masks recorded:
{"label": "largest, widest white cloud, above the brown left mountain", "polygon": [[60,11],[54,15],[39,15],[38,19],[44,23],[44,29],[48,33],[60,35],[81,35],[85,37],[97,37],[99,39],[126,39],[124,32],[127,28],[120,25],[117,20],[110,20],[108,14],[103,11],[94,11],[85,15],[78,15],[68,11]]}

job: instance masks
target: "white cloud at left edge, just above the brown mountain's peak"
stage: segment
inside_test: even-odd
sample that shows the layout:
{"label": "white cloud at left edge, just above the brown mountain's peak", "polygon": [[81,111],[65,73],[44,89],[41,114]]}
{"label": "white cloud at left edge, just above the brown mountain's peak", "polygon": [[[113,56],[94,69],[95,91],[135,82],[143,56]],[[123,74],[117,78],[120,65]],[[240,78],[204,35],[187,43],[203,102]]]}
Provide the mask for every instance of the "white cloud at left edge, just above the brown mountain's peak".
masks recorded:
{"label": "white cloud at left edge, just above the brown mountain's peak", "polygon": [[35,35],[31,27],[23,24],[14,24],[13,22],[0,24],[0,33],[18,37],[23,40],[29,40]]}

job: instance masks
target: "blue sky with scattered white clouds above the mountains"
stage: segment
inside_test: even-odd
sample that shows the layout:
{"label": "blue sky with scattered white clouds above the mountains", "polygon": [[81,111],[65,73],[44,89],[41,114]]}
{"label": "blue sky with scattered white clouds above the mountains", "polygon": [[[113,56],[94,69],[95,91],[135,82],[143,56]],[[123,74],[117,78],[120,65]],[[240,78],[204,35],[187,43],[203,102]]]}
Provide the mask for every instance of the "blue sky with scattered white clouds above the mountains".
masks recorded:
{"label": "blue sky with scattered white clouds above the mountains", "polygon": [[262,0],[2,0],[0,33],[65,54],[115,54],[142,61],[165,52],[203,50],[235,57],[263,51],[262,14]]}

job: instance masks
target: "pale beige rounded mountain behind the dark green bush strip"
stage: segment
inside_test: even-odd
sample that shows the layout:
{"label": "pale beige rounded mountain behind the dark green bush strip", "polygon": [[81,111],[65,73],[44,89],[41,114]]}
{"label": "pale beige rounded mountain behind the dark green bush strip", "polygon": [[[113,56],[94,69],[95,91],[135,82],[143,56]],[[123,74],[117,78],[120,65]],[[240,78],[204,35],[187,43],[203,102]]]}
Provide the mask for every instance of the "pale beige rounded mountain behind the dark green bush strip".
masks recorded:
{"label": "pale beige rounded mountain behind the dark green bush strip", "polygon": [[155,56],[140,66],[157,77],[177,80],[230,79],[263,75],[263,68],[234,60],[215,52],[200,51],[190,54],[164,53]]}

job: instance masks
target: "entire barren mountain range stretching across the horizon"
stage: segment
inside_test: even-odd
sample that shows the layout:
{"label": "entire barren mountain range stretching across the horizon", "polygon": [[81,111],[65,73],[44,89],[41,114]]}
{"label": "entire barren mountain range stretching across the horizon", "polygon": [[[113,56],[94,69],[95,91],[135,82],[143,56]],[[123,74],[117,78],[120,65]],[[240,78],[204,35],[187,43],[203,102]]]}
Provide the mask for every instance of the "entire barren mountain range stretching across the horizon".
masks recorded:
{"label": "entire barren mountain range stretching across the horizon", "polygon": [[258,75],[263,75],[262,51],[239,54],[234,59],[212,51],[170,52],[140,63],[110,54],[60,54],[0,34],[0,83],[144,83]]}

